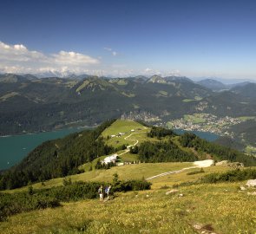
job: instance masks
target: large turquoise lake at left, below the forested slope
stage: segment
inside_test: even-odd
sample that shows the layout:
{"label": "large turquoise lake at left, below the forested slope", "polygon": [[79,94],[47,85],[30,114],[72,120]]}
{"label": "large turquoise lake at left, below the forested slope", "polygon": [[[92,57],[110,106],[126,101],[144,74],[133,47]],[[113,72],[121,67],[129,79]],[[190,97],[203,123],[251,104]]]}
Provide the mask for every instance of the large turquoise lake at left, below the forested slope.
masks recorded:
{"label": "large turquoise lake at left, below the forested slope", "polygon": [[14,166],[43,141],[62,138],[69,133],[82,131],[68,128],[45,133],[33,133],[0,137],[0,170]]}

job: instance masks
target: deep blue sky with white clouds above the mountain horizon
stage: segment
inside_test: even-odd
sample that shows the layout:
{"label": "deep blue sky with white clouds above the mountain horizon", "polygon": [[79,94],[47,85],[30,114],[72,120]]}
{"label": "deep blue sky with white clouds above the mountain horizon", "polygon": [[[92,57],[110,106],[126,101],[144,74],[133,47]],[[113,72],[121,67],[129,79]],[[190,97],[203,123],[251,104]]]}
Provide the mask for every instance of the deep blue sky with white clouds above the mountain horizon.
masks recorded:
{"label": "deep blue sky with white clouds above the mountain horizon", "polygon": [[1,0],[0,72],[256,80],[256,1]]}

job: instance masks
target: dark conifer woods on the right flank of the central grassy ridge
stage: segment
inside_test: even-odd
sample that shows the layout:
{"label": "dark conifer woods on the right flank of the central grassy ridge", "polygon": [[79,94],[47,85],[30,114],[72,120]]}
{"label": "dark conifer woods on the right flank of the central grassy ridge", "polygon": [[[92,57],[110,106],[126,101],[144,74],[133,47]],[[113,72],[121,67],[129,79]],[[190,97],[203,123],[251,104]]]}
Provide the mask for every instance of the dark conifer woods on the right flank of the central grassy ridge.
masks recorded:
{"label": "dark conifer woods on the right flank of the central grassy ridge", "polygon": [[[204,153],[216,161],[229,160],[232,162],[241,162],[245,166],[256,166],[256,159],[253,156],[245,155],[240,151],[226,146],[220,146],[207,140],[200,139],[194,133],[184,133],[179,136],[181,147],[174,143],[172,137],[177,135],[172,130],[162,127],[152,127],[148,133],[149,137],[157,137],[158,142],[142,142],[138,149],[139,159],[143,162],[182,162],[194,161],[200,159],[198,153]],[[183,149],[182,149],[183,147]],[[193,148],[193,151],[184,150],[184,148]]]}

